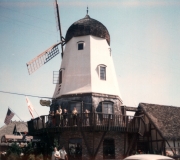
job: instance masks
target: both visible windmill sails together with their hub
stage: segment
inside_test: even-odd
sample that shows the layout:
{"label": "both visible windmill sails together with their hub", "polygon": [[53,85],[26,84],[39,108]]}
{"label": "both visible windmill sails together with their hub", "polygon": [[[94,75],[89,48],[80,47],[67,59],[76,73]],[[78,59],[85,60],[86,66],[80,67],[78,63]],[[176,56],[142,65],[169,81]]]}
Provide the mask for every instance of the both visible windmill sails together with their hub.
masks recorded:
{"label": "both visible windmill sails together with their hub", "polygon": [[46,49],[44,52],[39,54],[37,57],[33,58],[31,61],[29,61],[27,65],[27,69],[29,72],[29,75],[35,72],[37,69],[39,69],[43,64],[46,64],[49,62],[52,58],[54,58],[57,54],[59,54],[58,45],[61,45],[61,57],[63,58],[63,46],[65,45],[65,39],[62,36],[61,31],[61,23],[60,23],[60,16],[59,16],[59,7],[57,0],[55,0],[55,14],[57,17],[57,29],[60,32],[60,42],[52,45],[50,48]]}

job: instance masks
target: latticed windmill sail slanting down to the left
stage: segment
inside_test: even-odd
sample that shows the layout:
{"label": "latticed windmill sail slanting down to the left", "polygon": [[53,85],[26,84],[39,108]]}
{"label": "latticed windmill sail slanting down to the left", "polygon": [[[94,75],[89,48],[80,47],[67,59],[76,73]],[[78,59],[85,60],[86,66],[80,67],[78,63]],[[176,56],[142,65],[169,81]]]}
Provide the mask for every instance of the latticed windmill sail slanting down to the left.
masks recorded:
{"label": "latticed windmill sail slanting down to the left", "polygon": [[47,50],[45,50],[43,53],[29,61],[26,65],[28,68],[29,74],[32,74],[37,69],[39,69],[43,64],[50,61],[52,58],[54,58],[57,54],[59,54],[58,45],[62,44],[63,42],[59,42],[57,44],[54,44]]}

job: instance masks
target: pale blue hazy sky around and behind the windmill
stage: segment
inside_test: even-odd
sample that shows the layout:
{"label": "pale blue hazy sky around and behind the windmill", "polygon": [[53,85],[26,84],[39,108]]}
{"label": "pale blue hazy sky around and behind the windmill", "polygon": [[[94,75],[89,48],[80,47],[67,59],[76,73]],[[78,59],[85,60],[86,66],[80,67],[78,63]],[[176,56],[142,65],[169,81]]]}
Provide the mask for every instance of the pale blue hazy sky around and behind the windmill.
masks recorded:
{"label": "pale blue hazy sky around and behind the windmill", "polygon": [[[114,66],[123,104],[180,106],[180,1],[179,0],[58,0],[62,33],[89,16],[103,23],[111,37]],[[53,0],[0,1],[0,127],[8,107],[31,119],[24,95],[39,115],[49,108],[39,97],[52,97],[57,55],[33,74],[26,63],[59,42]],[[60,49],[60,47],[59,47]],[[6,94],[5,92],[19,93]],[[37,115],[35,115],[37,116]]]}

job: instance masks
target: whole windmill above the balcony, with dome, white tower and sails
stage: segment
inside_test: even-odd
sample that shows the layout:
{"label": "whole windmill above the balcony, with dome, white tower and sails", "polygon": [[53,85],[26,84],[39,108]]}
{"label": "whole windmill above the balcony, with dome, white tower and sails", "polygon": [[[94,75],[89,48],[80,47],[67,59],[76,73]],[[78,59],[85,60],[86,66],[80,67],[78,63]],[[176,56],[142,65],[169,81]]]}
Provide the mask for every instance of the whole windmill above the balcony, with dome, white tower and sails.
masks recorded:
{"label": "whole windmill above the balcony, with dome, white tower and sails", "polygon": [[[60,29],[60,21],[58,22]],[[122,99],[111,55],[110,35],[106,27],[92,19],[87,9],[87,15],[69,27],[65,38],[62,37],[61,29],[60,36],[60,43],[27,64],[28,69],[32,70],[32,66],[35,66],[33,63],[48,55],[43,61],[46,63],[56,55],[57,45],[61,44],[62,63],[53,103],[69,111],[76,106],[78,112],[88,109],[92,112],[121,114],[119,107]],[[63,51],[64,44],[66,46]]]}

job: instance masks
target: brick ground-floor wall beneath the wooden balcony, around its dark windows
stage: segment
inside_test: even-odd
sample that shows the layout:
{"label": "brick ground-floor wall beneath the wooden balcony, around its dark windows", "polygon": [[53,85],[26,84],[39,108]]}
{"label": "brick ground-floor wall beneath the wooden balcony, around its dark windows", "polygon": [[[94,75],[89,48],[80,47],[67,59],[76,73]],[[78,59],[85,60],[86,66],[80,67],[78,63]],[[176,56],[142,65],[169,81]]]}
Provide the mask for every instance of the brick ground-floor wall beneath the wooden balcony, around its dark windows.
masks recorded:
{"label": "brick ground-floor wall beneath the wooden balcony, around its dark windows", "polygon": [[[86,143],[83,139],[83,136],[81,132],[63,132],[59,135],[59,142],[60,146],[65,146],[66,151],[69,154],[69,139],[72,138],[81,138],[82,139],[82,160],[91,160],[92,157],[90,156],[90,153],[93,153],[98,148],[98,145],[102,139],[104,132],[84,132],[84,137],[86,139],[86,142],[89,145],[90,152],[87,149]],[[120,132],[107,132],[104,136],[105,138],[113,138],[115,142],[115,159],[121,160],[123,159],[124,155],[124,134]],[[94,143],[93,143],[94,139]],[[94,148],[94,151],[93,151]],[[95,160],[101,160],[103,159],[103,141],[101,143],[101,146],[99,148],[99,151],[97,152],[97,155],[95,157]]]}

